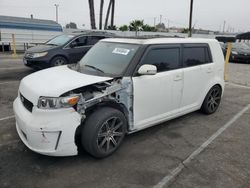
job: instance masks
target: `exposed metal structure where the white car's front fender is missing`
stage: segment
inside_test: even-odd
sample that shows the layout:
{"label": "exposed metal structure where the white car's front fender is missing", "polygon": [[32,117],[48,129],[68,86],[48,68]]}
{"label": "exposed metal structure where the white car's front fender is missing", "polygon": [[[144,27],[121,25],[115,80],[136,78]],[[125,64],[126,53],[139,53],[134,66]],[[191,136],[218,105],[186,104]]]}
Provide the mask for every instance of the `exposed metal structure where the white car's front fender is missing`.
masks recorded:
{"label": "exposed metal structure where the white car's front fender is missing", "polygon": [[133,126],[133,86],[130,77],[84,86],[63,94],[61,97],[79,96],[75,110],[82,123],[88,114],[101,106],[110,106],[122,111],[127,118],[128,131]]}

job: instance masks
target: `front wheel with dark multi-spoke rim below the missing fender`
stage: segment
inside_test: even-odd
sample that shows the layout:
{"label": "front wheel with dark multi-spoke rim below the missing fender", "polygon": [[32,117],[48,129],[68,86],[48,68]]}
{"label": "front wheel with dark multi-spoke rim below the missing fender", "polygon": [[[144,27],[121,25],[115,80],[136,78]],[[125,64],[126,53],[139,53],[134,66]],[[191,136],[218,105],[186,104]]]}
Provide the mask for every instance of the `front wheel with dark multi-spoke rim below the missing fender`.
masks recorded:
{"label": "front wheel with dark multi-spoke rim below the missing fender", "polygon": [[82,128],[81,143],[85,151],[96,158],[104,158],[121,145],[127,127],[124,114],[110,107],[92,113]]}

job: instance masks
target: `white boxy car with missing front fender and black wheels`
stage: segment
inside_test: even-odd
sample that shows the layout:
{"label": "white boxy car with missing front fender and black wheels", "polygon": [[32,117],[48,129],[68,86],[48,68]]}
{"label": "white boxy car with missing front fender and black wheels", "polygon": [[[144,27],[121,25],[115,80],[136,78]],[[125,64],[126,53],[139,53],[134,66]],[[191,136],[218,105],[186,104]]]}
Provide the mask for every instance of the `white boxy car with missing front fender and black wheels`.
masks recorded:
{"label": "white boxy car with missing front fender and black wheels", "polygon": [[97,158],[124,136],[201,109],[224,91],[224,58],[213,39],[104,39],[77,65],[25,77],[14,101],[17,132],[31,150]]}

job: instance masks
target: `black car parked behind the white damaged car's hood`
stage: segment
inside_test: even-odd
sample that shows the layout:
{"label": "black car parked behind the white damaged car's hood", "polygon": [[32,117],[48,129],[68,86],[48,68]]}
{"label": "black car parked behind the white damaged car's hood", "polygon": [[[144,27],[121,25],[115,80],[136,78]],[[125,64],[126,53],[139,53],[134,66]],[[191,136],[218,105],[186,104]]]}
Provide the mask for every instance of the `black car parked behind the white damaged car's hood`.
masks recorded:
{"label": "black car parked behind the white damaged car's hood", "polygon": [[107,32],[76,32],[52,38],[43,45],[29,48],[23,58],[26,66],[43,69],[77,63],[99,40],[114,37]]}

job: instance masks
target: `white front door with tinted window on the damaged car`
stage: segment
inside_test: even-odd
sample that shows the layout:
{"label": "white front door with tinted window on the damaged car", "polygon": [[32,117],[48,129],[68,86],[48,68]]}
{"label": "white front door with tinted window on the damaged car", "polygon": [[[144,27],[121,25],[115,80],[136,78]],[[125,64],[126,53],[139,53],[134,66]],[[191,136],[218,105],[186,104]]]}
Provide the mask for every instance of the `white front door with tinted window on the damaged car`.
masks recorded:
{"label": "white front door with tinted window on the damaged car", "polygon": [[157,73],[133,77],[135,130],[164,121],[177,113],[182,96],[179,45],[150,47],[138,68],[143,64],[155,65]]}

